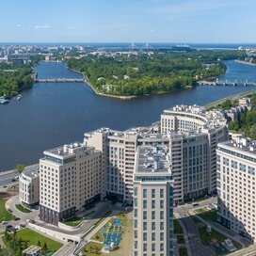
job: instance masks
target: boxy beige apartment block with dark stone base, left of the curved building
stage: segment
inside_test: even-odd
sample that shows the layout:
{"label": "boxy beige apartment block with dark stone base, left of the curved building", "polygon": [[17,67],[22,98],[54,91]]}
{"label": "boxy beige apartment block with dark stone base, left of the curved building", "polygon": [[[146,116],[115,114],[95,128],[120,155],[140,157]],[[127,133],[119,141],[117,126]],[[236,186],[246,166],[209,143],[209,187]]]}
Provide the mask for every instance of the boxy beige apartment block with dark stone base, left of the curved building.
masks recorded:
{"label": "boxy beige apartment block with dark stone base, left of the curved building", "polygon": [[102,152],[79,142],[43,152],[40,219],[57,225],[104,197]]}

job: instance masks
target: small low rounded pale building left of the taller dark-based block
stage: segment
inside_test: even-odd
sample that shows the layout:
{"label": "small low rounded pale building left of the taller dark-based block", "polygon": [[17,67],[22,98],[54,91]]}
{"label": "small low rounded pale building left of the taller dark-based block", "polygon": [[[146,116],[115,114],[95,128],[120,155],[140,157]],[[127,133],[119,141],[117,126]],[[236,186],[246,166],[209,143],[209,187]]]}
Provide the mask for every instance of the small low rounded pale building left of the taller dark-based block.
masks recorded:
{"label": "small low rounded pale building left of the taller dark-based block", "polygon": [[19,176],[19,199],[28,208],[40,202],[40,166],[24,168]]}

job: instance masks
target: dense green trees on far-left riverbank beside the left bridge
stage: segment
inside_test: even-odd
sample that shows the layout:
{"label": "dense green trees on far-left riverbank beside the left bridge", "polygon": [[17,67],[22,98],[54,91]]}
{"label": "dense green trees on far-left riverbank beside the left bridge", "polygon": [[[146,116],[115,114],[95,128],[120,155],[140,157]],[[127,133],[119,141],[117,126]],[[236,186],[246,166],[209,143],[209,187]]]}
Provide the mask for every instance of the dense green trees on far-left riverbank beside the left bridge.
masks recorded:
{"label": "dense green trees on far-left riverbank beside the left bridge", "polygon": [[31,71],[29,65],[0,64],[0,96],[11,97],[32,88]]}

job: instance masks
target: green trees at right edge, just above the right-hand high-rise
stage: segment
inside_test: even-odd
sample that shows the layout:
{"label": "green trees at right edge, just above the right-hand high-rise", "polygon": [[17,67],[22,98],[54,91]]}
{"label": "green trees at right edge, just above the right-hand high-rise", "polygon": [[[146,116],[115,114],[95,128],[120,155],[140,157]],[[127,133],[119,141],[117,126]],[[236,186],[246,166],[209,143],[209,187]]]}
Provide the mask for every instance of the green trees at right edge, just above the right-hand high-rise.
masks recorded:
{"label": "green trees at right edge, just above the right-hand high-rise", "polygon": [[252,139],[256,139],[256,95],[252,96],[253,107],[245,114],[242,114],[240,120],[231,121],[229,128],[233,131],[240,131]]}

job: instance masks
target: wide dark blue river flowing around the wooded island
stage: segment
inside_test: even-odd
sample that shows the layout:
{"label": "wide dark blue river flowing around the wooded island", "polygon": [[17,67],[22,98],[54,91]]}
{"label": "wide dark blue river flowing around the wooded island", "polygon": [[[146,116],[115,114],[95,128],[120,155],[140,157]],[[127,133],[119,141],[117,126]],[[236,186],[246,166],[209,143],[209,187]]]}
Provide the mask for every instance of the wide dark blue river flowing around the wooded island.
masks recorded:
{"label": "wide dark blue river flowing around the wooded island", "polygon": [[[228,61],[220,79],[256,81],[256,67]],[[41,63],[39,78],[81,78],[62,63]],[[36,163],[42,152],[99,127],[124,130],[159,120],[175,104],[209,104],[250,87],[198,87],[129,101],[97,96],[86,84],[35,84],[21,101],[0,105],[0,170]]]}

